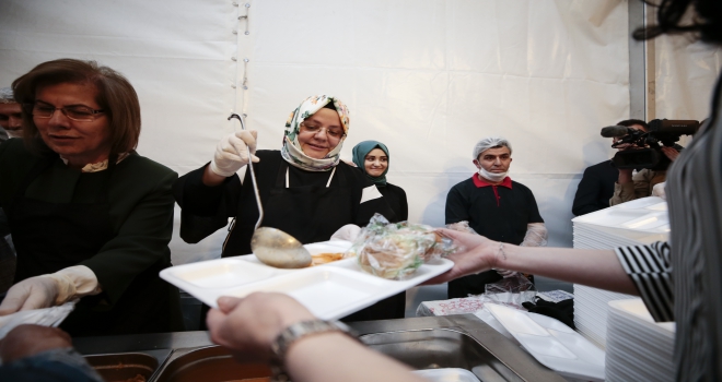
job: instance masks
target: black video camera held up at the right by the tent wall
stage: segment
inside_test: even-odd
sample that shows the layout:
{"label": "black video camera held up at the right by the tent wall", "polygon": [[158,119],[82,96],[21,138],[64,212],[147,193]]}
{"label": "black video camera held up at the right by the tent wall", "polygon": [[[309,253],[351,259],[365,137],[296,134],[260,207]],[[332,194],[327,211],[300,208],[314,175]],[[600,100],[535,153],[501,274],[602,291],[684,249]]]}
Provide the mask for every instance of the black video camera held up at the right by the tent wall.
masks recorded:
{"label": "black video camera held up at the right by the tent wall", "polygon": [[[612,163],[617,168],[649,168],[666,170],[669,158],[662,152],[662,145],[673,147],[682,135],[692,135],[699,129],[699,122],[692,120],[654,119],[650,130],[636,130],[624,126],[610,126],[602,129],[604,138],[621,138],[612,147],[628,144],[630,150],[615,154]],[[662,145],[660,145],[662,143]]]}

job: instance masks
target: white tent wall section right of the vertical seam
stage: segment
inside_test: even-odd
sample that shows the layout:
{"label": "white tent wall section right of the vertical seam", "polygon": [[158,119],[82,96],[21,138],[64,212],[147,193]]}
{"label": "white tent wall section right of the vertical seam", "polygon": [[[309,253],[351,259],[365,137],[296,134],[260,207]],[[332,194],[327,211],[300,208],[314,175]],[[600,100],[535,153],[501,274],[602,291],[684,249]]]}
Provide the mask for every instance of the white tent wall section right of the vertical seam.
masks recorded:
{"label": "white tent wall section right of the vertical seam", "polygon": [[580,174],[612,152],[599,129],[629,115],[626,2],[251,4],[244,98],[259,146],[279,147],[303,98],[336,95],[351,109],[342,156],[384,142],[409,219],[440,226],[449,189],[476,170],[474,144],[502,134],[550,244],[571,246]]}

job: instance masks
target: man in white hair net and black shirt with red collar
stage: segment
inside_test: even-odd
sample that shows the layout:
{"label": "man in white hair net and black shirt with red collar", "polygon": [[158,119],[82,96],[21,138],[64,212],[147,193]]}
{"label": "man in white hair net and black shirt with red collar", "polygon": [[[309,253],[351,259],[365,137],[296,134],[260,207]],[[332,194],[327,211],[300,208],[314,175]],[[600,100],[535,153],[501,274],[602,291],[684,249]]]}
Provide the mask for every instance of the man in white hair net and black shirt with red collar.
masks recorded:
{"label": "man in white hair net and black shirt with red collar", "polygon": [[[501,136],[489,136],[474,146],[471,178],[454,186],[446,195],[446,224],[468,222],[477,234],[503,243],[542,247],[547,243],[547,229],[532,190],[511,180],[511,143]],[[515,276],[514,272],[491,270],[449,283],[449,298],[481,295],[485,286]]]}

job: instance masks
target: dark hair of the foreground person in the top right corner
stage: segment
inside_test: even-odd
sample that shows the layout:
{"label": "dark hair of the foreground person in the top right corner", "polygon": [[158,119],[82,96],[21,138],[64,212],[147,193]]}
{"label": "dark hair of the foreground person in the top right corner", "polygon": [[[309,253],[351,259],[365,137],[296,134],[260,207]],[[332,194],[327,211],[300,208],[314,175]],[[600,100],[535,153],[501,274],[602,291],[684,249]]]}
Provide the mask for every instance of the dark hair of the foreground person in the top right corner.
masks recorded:
{"label": "dark hair of the foreground person in the top right corner", "polygon": [[[720,0],[662,0],[659,5],[642,0],[648,5],[659,7],[656,25],[640,27],[632,33],[638,40],[651,39],[663,34],[691,33],[695,38],[711,44],[722,44],[722,1]],[[682,24],[687,12],[694,10],[690,23]]]}

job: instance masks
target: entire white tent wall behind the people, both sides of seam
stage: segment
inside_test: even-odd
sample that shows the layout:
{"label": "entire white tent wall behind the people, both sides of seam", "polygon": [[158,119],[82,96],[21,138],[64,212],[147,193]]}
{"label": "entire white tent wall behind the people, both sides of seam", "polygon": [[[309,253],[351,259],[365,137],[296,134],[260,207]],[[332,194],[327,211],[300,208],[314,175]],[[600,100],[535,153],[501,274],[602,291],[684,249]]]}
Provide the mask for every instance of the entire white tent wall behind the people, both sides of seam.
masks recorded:
{"label": "entire white tent wall behind the people, both sides of seam", "polygon": [[[503,134],[510,175],[534,191],[550,244],[571,246],[581,172],[612,154],[599,128],[629,116],[626,1],[248,3],[4,0],[0,85],[61,57],[109,65],[139,93],[138,151],[180,175],[237,129],[230,111],[248,115],[261,148],[279,148],[291,110],[333,94],[351,109],[342,155],[386,143],[410,220],[434,226],[447,190],[475,170],[474,143]],[[223,236],[185,244],[176,224],[174,263],[219,255]]]}

